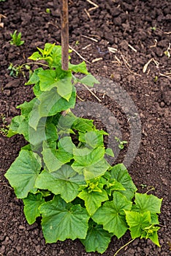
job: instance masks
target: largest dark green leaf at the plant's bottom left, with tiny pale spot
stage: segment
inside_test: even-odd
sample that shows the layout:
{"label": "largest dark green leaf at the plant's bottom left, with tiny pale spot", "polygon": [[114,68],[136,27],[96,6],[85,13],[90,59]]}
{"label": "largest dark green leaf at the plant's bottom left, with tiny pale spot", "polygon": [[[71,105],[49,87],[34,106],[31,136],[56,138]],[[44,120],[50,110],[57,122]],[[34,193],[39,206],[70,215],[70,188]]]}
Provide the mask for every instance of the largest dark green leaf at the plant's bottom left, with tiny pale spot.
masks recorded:
{"label": "largest dark green leaf at the plant's bottom left, with tiny pale spot", "polygon": [[52,201],[43,203],[39,211],[42,214],[42,231],[47,243],[64,241],[66,238],[86,238],[90,217],[80,205],[66,204],[56,196]]}

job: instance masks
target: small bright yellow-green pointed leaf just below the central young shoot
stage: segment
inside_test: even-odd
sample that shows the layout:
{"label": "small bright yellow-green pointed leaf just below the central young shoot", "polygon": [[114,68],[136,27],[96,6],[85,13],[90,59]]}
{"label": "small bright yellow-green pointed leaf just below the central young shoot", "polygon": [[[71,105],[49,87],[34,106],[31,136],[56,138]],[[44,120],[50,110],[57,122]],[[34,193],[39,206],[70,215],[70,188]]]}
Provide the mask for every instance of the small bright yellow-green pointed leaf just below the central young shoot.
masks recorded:
{"label": "small bright yellow-green pointed leaf just below the central young shoot", "polygon": [[102,192],[88,192],[84,189],[80,192],[78,197],[85,201],[85,206],[90,216],[94,215],[102,202],[108,200],[107,192],[105,192],[104,189],[102,189]]}

